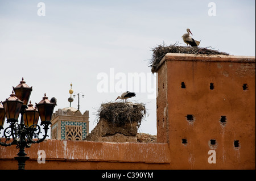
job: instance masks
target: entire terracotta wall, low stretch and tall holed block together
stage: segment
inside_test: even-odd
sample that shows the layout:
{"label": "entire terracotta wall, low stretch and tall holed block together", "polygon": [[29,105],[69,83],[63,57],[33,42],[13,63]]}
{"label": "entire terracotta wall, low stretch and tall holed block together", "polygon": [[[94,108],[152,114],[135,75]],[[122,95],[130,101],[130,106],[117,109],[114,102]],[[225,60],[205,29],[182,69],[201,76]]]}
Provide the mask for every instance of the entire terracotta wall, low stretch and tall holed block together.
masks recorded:
{"label": "entire terracotta wall, low stretch and tall holed block together", "polygon": [[[255,169],[255,57],[168,53],[157,87],[158,143],[47,140],[26,149],[26,169]],[[38,150],[46,163],[37,162]],[[208,163],[209,150],[216,163]],[[17,153],[1,146],[0,169],[18,169]]]}

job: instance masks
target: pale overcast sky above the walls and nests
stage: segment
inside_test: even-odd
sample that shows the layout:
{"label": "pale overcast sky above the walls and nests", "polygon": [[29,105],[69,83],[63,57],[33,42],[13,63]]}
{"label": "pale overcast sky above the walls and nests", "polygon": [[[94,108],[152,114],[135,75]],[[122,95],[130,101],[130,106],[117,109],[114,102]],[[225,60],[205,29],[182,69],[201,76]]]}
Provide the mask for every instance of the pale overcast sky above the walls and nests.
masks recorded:
{"label": "pale overcast sky above the walls and nests", "polygon": [[[39,16],[39,2],[45,5],[45,16]],[[255,56],[254,0],[0,0],[0,100],[9,98],[12,86],[24,77],[33,87],[32,104],[46,92],[49,99],[57,98],[57,111],[69,107],[72,82],[73,91],[85,95],[80,97],[80,111],[89,110],[92,131],[101,103],[113,102],[122,89],[135,91],[130,101],[146,103],[148,110],[139,132],[156,134],[151,49],[163,41],[185,45],[181,36],[187,28],[201,40],[200,47]],[[134,73],[146,78],[138,85],[129,78]],[[99,89],[101,83],[105,92]],[[77,108],[77,96],[72,107]]]}

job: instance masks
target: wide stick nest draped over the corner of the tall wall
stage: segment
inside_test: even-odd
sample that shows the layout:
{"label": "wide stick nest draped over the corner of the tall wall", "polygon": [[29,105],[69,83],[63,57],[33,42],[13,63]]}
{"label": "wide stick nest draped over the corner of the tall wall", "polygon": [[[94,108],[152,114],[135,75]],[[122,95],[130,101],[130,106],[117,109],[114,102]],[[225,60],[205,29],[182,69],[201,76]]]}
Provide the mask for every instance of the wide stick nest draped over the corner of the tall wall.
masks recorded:
{"label": "wide stick nest draped over the corner of the tall wall", "polygon": [[155,47],[151,50],[153,54],[149,62],[150,64],[149,66],[151,67],[152,73],[156,71],[159,65],[159,62],[166,55],[166,53],[187,53],[187,54],[195,54],[195,56],[197,56],[198,54],[205,54],[207,56],[210,56],[213,54],[229,55],[228,53],[225,53],[225,52],[219,52],[218,50],[213,50],[210,47],[201,48],[201,47],[178,46],[177,43],[175,43],[174,45],[170,45],[168,47],[164,47],[164,45],[158,45],[158,47]]}

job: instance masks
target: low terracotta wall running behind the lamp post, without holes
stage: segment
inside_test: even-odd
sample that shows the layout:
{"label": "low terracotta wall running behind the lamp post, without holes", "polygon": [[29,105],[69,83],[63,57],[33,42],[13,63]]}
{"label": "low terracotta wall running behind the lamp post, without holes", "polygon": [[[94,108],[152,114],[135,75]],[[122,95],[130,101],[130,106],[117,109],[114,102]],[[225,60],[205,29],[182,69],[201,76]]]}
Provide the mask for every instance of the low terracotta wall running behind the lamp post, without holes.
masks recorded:
{"label": "low terracotta wall running behind the lamp post, without holes", "polygon": [[[38,163],[38,150],[46,163]],[[168,144],[47,140],[25,149],[25,169],[167,169]],[[15,146],[1,147],[0,169],[18,169]]]}

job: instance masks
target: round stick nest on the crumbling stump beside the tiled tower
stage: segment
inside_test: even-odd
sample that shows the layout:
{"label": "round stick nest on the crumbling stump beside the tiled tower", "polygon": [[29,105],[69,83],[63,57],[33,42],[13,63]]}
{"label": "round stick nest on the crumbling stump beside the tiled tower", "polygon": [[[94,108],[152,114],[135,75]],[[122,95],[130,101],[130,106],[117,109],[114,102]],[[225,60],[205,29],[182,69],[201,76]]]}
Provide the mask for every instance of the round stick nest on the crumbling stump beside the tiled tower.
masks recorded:
{"label": "round stick nest on the crumbling stump beside the tiled tower", "polygon": [[126,123],[138,123],[141,125],[146,115],[145,104],[143,103],[103,103],[96,113],[100,119],[106,119],[110,123],[124,125]]}

